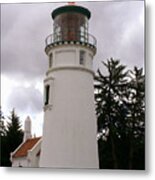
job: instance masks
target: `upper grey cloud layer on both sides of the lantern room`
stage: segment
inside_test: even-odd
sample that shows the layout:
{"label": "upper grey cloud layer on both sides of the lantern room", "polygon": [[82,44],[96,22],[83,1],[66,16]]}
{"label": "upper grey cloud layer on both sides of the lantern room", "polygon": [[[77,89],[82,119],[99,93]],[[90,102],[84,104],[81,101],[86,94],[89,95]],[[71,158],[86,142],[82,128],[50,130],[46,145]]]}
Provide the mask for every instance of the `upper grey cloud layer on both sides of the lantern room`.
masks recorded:
{"label": "upper grey cloud layer on both sides of the lantern room", "polygon": [[[144,32],[138,19],[142,1],[79,4],[92,12],[89,29],[98,41],[95,69],[101,60],[111,56],[121,58],[131,67],[143,66]],[[53,23],[50,13],[61,5],[64,3],[2,5],[2,73],[27,78],[44,75],[47,68],[44,41],[52,33]]]}

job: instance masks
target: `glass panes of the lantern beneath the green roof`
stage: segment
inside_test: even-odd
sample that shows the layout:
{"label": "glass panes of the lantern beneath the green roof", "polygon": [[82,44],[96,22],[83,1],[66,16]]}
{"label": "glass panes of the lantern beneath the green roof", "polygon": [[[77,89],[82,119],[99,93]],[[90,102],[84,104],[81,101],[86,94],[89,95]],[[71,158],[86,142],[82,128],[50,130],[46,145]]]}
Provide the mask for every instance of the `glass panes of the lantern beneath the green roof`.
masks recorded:
{"label": "glass panes of the lantern beneath the green roof", "polygon": [[54,19],[54,42],[88,42],[88,18],[81,13],[64,12]]}

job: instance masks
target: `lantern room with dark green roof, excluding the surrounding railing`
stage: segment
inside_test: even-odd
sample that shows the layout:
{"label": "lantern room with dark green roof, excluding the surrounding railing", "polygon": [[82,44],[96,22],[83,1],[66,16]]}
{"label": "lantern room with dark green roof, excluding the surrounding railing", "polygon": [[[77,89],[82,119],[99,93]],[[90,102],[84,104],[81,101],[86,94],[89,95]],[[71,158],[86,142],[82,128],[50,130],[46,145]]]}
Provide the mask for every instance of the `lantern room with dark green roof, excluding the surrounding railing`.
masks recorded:
{"label": "lantern room with dark green roof, excluding the surrounding railing", "polygon": [[80,6],[64,6],[52,13],[55,41],[88,41],[90,12]]}

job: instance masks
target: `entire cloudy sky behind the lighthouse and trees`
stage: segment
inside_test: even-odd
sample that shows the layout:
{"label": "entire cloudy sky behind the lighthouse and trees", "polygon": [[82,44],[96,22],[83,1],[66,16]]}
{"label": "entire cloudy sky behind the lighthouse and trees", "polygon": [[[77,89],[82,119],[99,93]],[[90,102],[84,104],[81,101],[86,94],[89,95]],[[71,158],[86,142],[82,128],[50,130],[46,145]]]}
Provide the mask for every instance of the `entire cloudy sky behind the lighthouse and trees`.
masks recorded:
{"label": "entire cloudy sky behind the lighthouse and trees", "polygon": [[[66,3],[1,5],[1,106],[14,107],[22,122],[32,119],[42,134],[43,79],[48,67],[45,38],[53,32],[51,12]],[[144,67],[144,1],[78,2],[92,17],[89,33],[97,39],[94,71],[113,57],[132,69]],[[104,71],[104,70],[103,70]]]}

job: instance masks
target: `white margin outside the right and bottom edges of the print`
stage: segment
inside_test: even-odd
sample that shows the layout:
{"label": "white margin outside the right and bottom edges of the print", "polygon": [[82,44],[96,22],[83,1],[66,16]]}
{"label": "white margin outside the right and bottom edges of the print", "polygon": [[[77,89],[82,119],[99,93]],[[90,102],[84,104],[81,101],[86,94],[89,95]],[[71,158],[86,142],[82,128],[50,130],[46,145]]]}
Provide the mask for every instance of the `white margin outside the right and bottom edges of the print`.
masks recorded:
{"label": "white margin outside the right and bottom edges of the print", "polygon": [[[64,0],[61,0],[61,2]],[[69,1],[69,0],[68,0]],[[0,0],[1,3],[21,3],[21,2],[51,2],[50,0]],[[53,1],[52,1],[53,2]],[[65,1],[66,2],[66,1]],[[148,166],[146,171],[114,171],[114,170],[62,170],[62,169],[24,169],[24,168],[0,168],[1,179],[15,179],[15,180],[27,180],[27,179],[103,179],[103,180],[143,180],[143,179],[155,179],[155,1],[146,0],[146,104],[147,104],[147,116],[146,127],[147,137],[146,145],[147,156],[146,165]]]}

